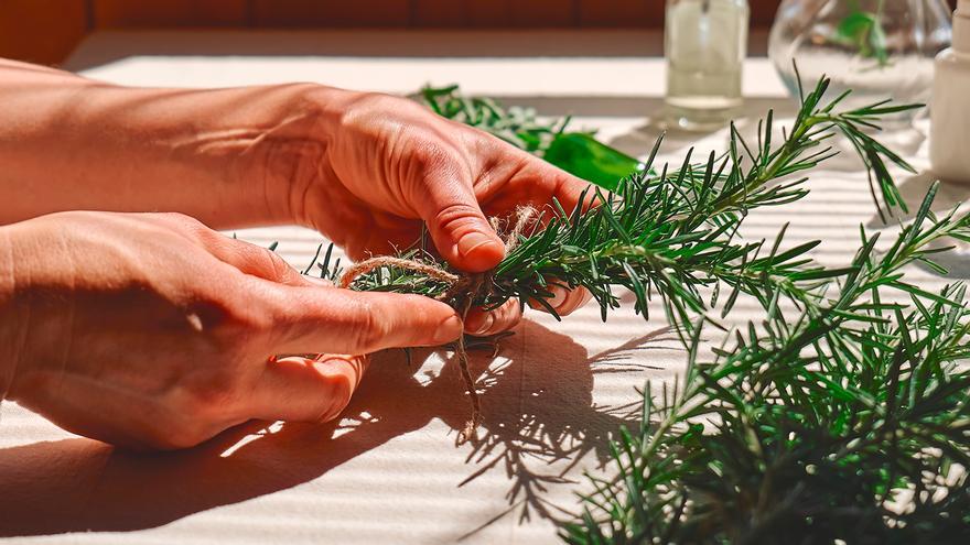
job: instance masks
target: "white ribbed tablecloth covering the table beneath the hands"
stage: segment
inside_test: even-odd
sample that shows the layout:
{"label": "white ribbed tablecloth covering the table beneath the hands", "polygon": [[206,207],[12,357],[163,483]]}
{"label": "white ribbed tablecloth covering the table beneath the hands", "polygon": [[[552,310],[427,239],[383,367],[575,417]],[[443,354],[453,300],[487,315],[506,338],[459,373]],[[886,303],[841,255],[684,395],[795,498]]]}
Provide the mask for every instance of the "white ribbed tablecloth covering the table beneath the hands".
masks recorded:
{"label": "white ribbed tablecloth covering the table beneath the hands", "polygon": [[[664,91],[658,47],[656,34],[638,32],[105,32],[83,43],[67,67],[130,85],[314,80],[410,92],[429,81],[459,83],[542,113],[576,113],[579,124],[601,128],[601,138],[642,154],[658,132],[650,120]],[[750,112],[793,111],[767,59],[750,59],[745,68]],[[682,154],[690,140],[673,135],[666,153]],[[723,142],[713,134],[699,148]],[[926,166],[918,139],[907,152]],[[860,224],[893,230],[879,222],[858,166],[837,160],[832,167],[813,175],[805,200],[752,215],[746,236],[774,237],[790,221],[788,244],[822,238],[815,257],[840,265],[858,246]],[[899,182],[910,201],[929,185],[928,176]],[[945,187],[937,208],[964,196]],[[321,242],[297,228],[238,235],[260,244],[280,241],[280,253],[301,268]],[[913,274],[927,288],[944,282],[922,270]],[[756,316],[745,303],[730,319]],[[483,439],[461,447],[454,440],[467,405],[454,366],[443,364],[448,353],[416,353],[410,367],[399,352],[380,355],[338,423],[255,424],[180,453],[116,451],[7,403],[0,536],[32,543],[552,543],[553,521],[576,509],[582,470],[596,471],[607,459],[608,435],[635,422],[635,388],[682,371],[685,353],[664,326],[628,310],[602,325],[595,306],[563,323],[529,314],[494,360],[475,357],[486,390]]]}

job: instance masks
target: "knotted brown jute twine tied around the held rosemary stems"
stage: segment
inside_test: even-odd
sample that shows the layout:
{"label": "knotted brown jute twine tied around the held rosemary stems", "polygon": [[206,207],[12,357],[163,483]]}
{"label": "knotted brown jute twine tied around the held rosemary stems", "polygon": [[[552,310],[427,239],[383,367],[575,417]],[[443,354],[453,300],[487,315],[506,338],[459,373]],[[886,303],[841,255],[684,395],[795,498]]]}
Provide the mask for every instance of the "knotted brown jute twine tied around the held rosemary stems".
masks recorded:
{"label": "knotted brown jute twine tied around the held rosemary stems", "polygon": [[[535,225],[532,220],[536,215],[537,210],[532,207],[519,207],[516,209],[515,226],[508,230],[503,238],[506,255],[518,246],[519,237],[526,230],[526,227],[530,224]],[[500,233],[504,230],[502,228],[502,220],[498,218],[492,218],[491,222],[495,232]],[[370,258],[351,266],[341,275],[338,285],[344,288],[349,288],[354,283],[354,280],[382,268],[403,269],[406,271],[423,274],[446,284],[449,286],[448,290],[435,297],[435,299],[443,302],[454,301],[455,309],[461,314],[462,321],[467,318],[468,312],[472,309],[472,305],[475,301],[485,299],[492,295],[492,274],[494,271],[454,274],[444,269],[421,261],[386,255]],[[482,423],[482,401],[478,397],[478,391],[475,388],[475,379],[472,377],[472,371],[468,367],[468,352],[465,348],[464,335],[459,337],[455,345],[455,357],[457,358],[459,369],[461,370],[462,380],[465,383],[465,390],[468,392],[468,401],[471,402],[471,414],[468,415],[468,419],[465,422],[462,430],[459,433],[456,442],[459,445],[462,445],[468,440],[477,439],[478,426]]]}

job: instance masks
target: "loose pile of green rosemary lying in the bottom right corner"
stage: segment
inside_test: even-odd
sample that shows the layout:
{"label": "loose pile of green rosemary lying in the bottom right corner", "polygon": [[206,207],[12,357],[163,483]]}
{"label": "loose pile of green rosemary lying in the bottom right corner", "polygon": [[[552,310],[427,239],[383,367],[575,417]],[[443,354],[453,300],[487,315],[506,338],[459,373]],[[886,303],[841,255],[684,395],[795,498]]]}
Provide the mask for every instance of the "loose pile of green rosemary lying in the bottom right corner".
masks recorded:
{"label": "loose pile of green rosemary lying in the bottom right corner", "polygon": [[[714,359],[688,342],[683,389],[644,393],[643,425],[592,478],[574,544],[955,543],[970,535],[966,287],[928,293],[902,269],[934,241],[936,188],[884,253],[862,248],[837,294],[786,320],[768,313]],[[891,303],[894,294],[908,304]],[[898,298],[898,297],[897,297]],[[703,421],[712,430],[705,430]]]}

